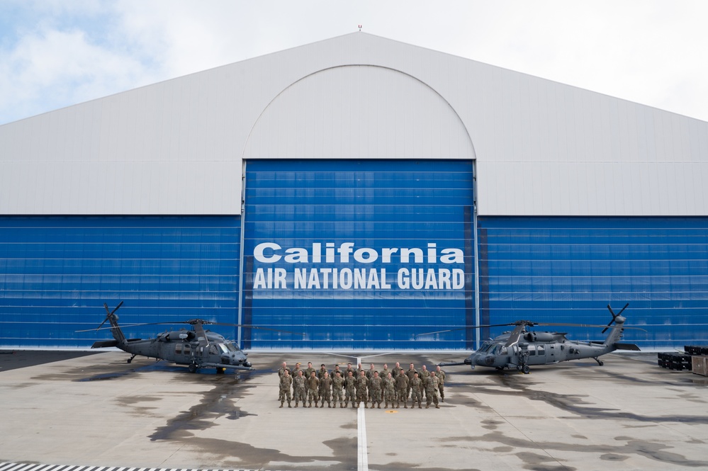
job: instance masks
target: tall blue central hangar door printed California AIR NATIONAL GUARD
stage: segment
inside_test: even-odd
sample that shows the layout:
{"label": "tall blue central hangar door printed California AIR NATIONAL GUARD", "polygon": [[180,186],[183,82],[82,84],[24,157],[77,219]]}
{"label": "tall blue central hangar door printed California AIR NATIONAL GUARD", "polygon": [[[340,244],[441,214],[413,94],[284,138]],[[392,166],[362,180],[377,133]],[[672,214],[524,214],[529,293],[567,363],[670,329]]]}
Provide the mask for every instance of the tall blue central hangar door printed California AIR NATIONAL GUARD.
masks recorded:
{"label": "tall blue central hangar door printed California AIR NATIONAL GUARD", "polygon": [[471,347],[460,328],[474,319],[472,172],[471,161],[248,161],[242,323],[274,330],[245,329],[244,346]]}

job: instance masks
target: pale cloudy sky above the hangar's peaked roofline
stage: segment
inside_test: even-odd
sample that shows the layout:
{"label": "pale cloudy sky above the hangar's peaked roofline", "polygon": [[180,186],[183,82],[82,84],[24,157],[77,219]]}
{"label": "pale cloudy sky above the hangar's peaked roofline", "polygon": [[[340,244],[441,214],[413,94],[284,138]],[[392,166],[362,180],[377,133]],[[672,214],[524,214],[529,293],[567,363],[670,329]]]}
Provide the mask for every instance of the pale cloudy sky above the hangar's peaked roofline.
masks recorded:
{"label": "pale cloudy sky above the hangar's peaked roofline", "polygon": [[705,0],[0,0],[0,125],[361,30],[708,121]]}

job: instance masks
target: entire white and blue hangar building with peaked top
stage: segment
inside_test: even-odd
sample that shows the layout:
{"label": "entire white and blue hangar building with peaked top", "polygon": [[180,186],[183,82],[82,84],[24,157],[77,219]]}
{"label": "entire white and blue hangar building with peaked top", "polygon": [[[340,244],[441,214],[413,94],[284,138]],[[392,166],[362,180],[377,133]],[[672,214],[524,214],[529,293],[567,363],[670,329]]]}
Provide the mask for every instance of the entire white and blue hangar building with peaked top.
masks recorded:
{"label": "entire white and blue hangar building with peaked top", "polygon": [[627,302],[641,348],[705,342],[707,179],[703,121],[343,35],[0,126],[0,346],[90,346],[120,300],[255,349]]}

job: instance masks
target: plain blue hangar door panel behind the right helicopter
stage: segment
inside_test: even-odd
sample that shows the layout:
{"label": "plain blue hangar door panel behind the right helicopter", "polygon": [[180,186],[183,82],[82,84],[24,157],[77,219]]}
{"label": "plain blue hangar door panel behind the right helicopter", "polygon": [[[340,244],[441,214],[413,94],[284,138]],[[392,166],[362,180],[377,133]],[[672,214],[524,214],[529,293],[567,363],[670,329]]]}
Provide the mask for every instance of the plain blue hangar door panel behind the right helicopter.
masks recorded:
{"label": "plain blue hangar door panel behind the right helicopter", "polygon": [[629,302],[627,325],[647,332],[625,339],[640,347],[708,341],[706,217],[479,217],[478,244],[482,324],[604,325],[608,303]]}

